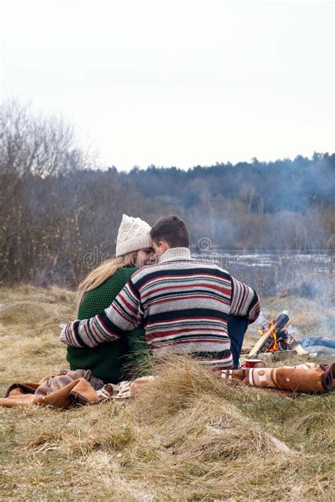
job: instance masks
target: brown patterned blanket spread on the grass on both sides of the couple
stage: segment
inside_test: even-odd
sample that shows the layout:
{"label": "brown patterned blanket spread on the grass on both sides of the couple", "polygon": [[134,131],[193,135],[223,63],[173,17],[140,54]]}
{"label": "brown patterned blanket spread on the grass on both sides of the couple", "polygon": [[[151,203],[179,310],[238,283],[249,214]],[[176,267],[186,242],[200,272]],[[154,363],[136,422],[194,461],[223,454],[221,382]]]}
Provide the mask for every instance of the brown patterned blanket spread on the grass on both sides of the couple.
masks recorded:
{"label": "brown patterned blanket spread on the grass on both sides of the couple", "polygon": [[[267,389],[290,392],[329,392],[335,389],[335,363],[317,365],[305,363],[283,367],[246,367],[240,370],[222,370],[221,378]],[[43,377],[40,382],[15,383],[0,399],[0,406],[28,406],[42,404],[52,408],[68,409],[75,404],[96,404],[105,399],[134,397],[145,389],[153,376],[140,377],[132,382],[103,384],[90,370],[64,371],[54,377]]]}

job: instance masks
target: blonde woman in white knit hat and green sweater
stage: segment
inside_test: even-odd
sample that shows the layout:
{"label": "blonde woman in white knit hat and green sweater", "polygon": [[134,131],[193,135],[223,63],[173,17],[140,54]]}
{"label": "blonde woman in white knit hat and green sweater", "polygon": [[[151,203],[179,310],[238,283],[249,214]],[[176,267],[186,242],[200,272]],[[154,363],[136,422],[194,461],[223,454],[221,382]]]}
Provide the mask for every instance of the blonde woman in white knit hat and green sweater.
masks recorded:
{"label": "blonde woman in white knit hat and green sweater", "polygon": [[[115,258],[92,270],[78,287],[77,319],[89,319],[107,309],[131,275],[138,268],[152,263],[150,230],[151,227],[141,218],[122,216]],[[139,349],[145,347],[143,340],[144,330],[138,328],[131,331],[127,338],[102,343],[95,348],[68,346],[66,359],[71,370],[91,370],[94,377],[105,383],[117,383],[131,378],[134,351],[141,352]]]}

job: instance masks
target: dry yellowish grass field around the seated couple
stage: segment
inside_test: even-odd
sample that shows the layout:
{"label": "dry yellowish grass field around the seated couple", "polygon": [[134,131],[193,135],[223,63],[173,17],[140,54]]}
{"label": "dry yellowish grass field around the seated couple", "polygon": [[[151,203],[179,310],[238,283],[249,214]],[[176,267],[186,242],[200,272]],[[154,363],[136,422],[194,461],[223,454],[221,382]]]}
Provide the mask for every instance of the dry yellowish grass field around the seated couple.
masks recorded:
{"label": "dry yellowish grass field around the seated couple", "polygon": [[[0,288],[0,304],[1,395],[67,367],[57,324],[74,319],[73,293]],[[264,309],[288,309],[298,338],[334,336],[327,303],[278,296]],[[127,402],[1,408],[1,499],[335,499],[334,392],[292,399],[233,388],[182,358],[157,372],[148,392]]]}

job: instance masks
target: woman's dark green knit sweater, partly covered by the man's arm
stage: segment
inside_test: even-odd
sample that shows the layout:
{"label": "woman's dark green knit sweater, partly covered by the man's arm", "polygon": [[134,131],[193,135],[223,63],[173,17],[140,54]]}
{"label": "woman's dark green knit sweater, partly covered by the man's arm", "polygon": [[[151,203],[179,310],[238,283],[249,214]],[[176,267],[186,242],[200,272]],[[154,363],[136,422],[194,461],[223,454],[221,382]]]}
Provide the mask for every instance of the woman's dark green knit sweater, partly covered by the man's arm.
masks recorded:
{"label": "woman's dark green knit sweater, partly covered by the man's arm", "polygon": [[[107,309],[136,270],[134,267],[119,268],[105,283],[86,292],[77,319],[89,319]],[[71,370],[91,370],[104,382],[117,383],[129,380],[135,363],[141,366],[146,355],[144,329],[137,328],[117,341],[101,343],[94,348],[68,346],[66,359]]]}

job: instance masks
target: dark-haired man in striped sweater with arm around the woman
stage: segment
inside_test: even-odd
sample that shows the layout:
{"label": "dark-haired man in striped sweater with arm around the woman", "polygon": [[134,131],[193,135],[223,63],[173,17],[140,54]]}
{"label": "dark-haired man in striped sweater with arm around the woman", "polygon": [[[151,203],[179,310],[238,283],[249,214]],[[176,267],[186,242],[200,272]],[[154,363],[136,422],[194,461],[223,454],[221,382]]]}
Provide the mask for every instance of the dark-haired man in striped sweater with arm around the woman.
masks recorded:
{"label": "dark-haired man in striped sweater with arm around the woman", "polygon": [[[213,369],[233,368],[247,324],[259,315],[257,293],[226,270],[191,258],[189,231],[180,217],[160,218],[150,234],[158,263],[134,273],[104,312],[67,324],[61,341],[93,347],[143,324],[153,357],[187,353]],[[230,338],[233,316],[244,320]]]}

